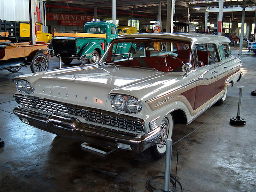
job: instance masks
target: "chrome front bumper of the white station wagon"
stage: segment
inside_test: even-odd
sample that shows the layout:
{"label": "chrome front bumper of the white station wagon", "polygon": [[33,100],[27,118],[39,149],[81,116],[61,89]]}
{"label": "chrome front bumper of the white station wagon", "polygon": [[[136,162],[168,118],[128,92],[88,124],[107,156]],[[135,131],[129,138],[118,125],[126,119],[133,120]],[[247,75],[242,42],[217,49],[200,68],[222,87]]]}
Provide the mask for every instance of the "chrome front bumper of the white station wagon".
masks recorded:
{"label": "chrome front bumper of the white station wagon", "polygon": [[45,115],[19,106],[14,108],[13,112],[22,122],[59,136],[111,148],[118,148],[117,143],[128,144],[133,152],[138,153],[154,145],[161,133],[160,127],[143,135],[110,130],[101,126],[85,124],[77,118],[55,114]]}

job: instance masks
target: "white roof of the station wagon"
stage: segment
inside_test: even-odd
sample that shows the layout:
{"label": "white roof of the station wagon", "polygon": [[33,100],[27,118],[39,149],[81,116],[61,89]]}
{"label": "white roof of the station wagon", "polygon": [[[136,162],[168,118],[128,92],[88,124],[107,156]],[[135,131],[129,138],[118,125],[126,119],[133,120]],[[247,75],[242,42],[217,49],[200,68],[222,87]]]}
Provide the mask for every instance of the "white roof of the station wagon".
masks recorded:
{"label": "white roof of the station wagon", "polygon": [[143,34],[130,34],[120,36],[118,38],[163,38],[180,40],[190,42],[191,44],[204,44],[204,43],[228,43],[230,40],[224,36],[217,36],[212,34],[198,34],[198,33],[143,33]]}

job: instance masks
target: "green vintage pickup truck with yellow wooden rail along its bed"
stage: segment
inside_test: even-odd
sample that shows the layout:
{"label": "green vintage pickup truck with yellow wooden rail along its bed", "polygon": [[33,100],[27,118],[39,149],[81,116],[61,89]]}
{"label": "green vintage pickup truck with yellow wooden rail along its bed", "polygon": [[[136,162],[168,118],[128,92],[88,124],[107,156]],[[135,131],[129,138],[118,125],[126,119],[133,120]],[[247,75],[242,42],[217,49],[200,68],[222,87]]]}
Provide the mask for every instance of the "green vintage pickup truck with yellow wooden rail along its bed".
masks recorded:
{"label": "green vintage pickup truck with yellow wooden rail along its bed", "polygon": [[[118,36],[116,25],[109,22],[87,22],[84,33],[57,33],[52,36],[54,55],[64,64],[86,55],[88,63],[97,63],[110,41]],[[128,51],[128,50],[127,50]]]}

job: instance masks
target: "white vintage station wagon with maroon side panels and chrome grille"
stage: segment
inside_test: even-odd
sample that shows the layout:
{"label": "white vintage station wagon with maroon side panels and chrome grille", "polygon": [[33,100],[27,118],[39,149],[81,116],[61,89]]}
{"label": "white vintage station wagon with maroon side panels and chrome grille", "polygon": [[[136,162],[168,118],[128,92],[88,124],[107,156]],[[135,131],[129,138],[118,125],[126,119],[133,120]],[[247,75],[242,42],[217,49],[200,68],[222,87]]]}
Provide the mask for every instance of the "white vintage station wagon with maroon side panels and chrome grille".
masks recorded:
{"label": "white vintage station wagon with maroon side panels and chrome grille", "polygon": [[174,124],[222,104],[228,84],[240,80],[229,42],[206,34],[120,36],[98,64],[15,77],[13,112],[60,136],[160,158]]}

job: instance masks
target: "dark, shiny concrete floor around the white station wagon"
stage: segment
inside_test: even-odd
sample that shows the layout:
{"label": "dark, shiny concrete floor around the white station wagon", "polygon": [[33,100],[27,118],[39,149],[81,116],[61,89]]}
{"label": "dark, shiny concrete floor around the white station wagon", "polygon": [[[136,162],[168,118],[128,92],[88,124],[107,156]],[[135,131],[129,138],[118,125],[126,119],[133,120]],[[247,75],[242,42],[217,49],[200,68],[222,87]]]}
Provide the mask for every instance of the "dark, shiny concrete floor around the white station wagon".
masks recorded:
{"label": "dark, shiny concrete floor around the white station wagon", "polygon": [[[232,53],[237,56],[238,46]],[[174,126],[177,178],[183,191],[256,191],[256,97],[250,95],[256,89],[255,61],[256,54],[243,52],[244,76],[228,88],[224,104],[212,106],[189,125]],[[58,59],[50,58],[50,69],[54,68]],[[17,105],[12,78],[26,73],[30,68],[13,74],[0,71],[0,137],[5,139],[0,148],[1,192],[144,192],[148,178],[164,171],[165,158],[144,160],[128,151],[99,155],[82,149],[80,142],[22,123],[12,113]],[[244,87],[241,117],[246,125],[231,126],[240,86]],[[172,176],[176,156],[173,151]],[[163,188],[163,180],[153,184]]]}

